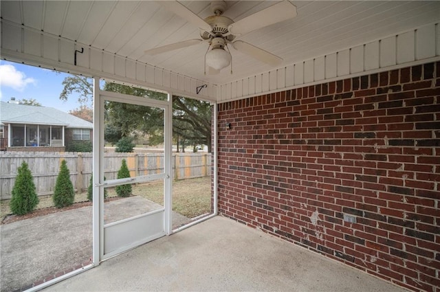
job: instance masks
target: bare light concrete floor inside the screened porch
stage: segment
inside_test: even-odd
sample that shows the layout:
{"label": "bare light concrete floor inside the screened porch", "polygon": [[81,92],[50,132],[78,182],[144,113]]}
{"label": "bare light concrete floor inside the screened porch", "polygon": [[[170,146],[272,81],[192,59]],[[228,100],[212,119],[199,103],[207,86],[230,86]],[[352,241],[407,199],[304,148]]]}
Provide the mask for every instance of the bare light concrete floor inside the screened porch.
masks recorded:
{"label": "bare light concrete floor inside the screened porch", "polygon": [[44,291],[406,291],[217,216]]}

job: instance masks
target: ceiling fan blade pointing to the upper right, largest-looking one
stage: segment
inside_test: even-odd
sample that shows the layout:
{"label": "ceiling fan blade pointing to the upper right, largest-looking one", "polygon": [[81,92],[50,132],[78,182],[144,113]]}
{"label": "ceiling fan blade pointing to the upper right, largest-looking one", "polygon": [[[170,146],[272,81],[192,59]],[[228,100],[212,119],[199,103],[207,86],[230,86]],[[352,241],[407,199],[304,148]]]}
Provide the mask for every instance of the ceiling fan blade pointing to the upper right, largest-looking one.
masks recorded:
{"label": "ceiling fan blade pointing to the upper right, largest-looking one", "polygon": [[234,35],[247,34],[267,25],[293,19],[295,16],[296,6],[285,0],[232,23],[228,30]]}

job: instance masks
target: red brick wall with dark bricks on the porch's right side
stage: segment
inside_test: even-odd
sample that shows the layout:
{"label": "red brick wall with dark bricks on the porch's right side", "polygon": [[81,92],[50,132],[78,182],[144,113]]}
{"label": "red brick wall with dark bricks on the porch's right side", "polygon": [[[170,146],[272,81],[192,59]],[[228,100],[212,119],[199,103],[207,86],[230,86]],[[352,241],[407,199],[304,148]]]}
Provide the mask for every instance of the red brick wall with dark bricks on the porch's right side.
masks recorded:
{"label": "red brick wall with dark bricks on the porch's right side", "polygon": [[218,110],[220,214],[440,291],[440,62]]}

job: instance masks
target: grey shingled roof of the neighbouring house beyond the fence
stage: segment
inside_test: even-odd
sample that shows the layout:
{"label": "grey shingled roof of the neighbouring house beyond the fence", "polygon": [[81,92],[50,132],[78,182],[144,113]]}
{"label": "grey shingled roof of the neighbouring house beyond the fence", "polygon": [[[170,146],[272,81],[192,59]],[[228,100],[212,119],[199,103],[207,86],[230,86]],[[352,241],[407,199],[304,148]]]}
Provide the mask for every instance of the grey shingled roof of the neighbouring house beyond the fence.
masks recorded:
{"label": "grey shingled roof of the neighbouring house beyond the fence", "polygon": [[45,124],[68,128],[93,128],[91,122],[53,107],[30,106],[0,102],[0,122],[14,124]]}

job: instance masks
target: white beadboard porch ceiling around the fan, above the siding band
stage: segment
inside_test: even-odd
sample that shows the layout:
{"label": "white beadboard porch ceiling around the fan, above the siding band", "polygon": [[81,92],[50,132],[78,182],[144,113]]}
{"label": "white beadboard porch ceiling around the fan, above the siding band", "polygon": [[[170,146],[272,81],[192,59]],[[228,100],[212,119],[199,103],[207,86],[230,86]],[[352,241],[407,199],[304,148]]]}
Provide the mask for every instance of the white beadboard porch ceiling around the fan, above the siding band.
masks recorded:
{"label": "white beadboard porch ceiling around the fan, above the siding band", "polygon": [[[210,1],[180,1],[201,18]],[[243,41],[283,58],[281,67],[395,35],[440,19],[440,1],[291,1],[298,16],[254,30]],[[234,21],[276,1],[227,1]],[[207,44],[147,56],[144,50],[191,38],[199,29],[155,1],[1,1],[1,19],[197,80],[222,85],[274,68],[231,48],[232,71],[204,75]]]}

